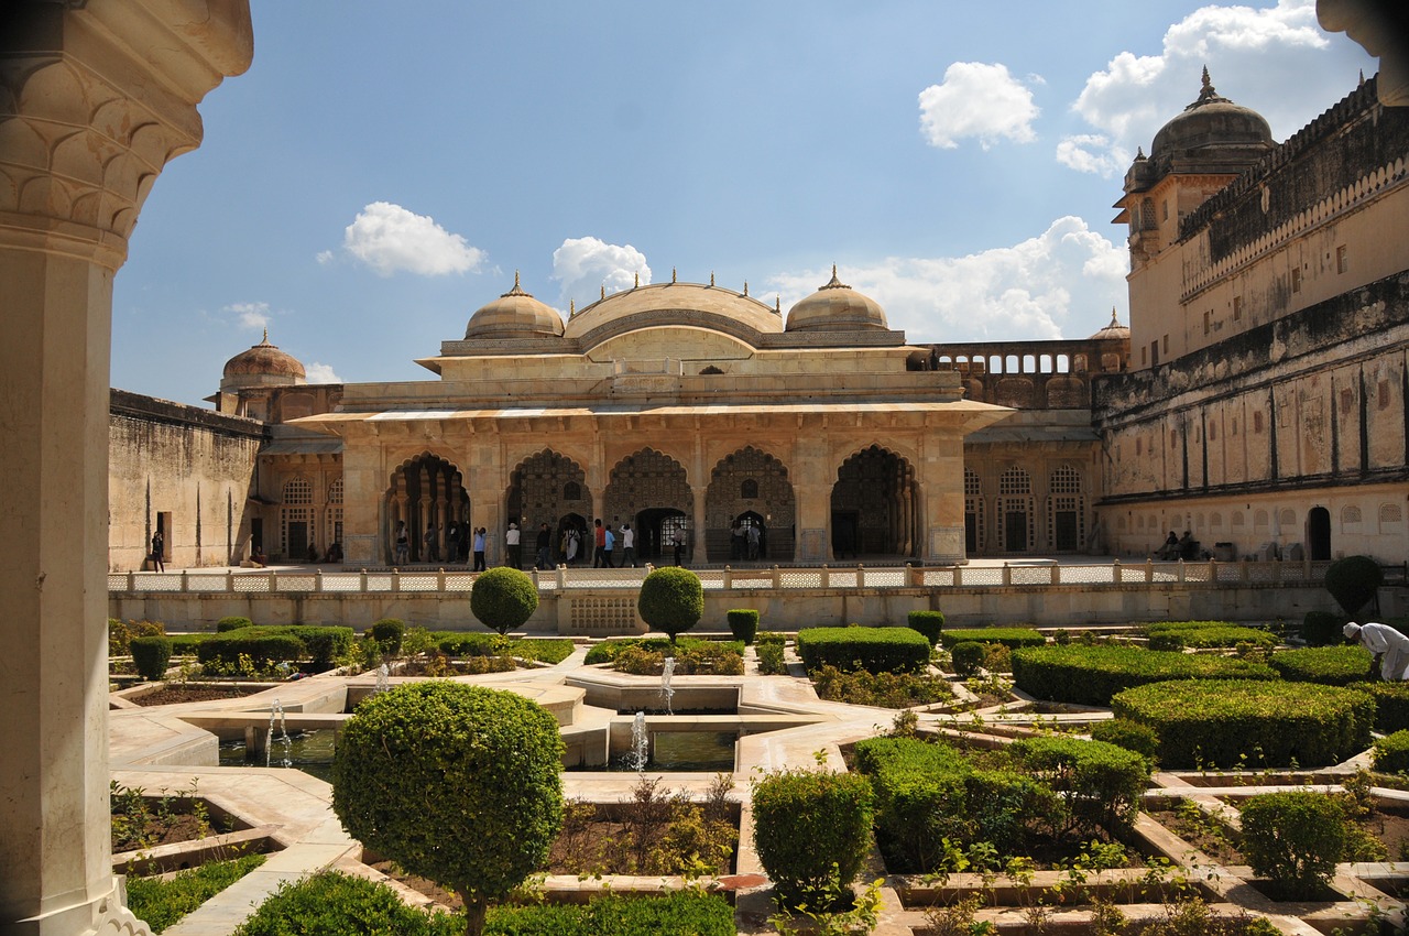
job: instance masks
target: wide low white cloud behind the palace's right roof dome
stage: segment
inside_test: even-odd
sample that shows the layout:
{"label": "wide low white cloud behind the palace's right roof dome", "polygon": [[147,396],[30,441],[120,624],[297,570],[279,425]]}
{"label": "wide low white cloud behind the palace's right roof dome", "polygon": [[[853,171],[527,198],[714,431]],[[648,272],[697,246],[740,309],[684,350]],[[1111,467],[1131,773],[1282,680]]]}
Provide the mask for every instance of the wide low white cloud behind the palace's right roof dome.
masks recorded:
{"label": "wide low white cloud behind the palace's right roof dome", "polygon": [[[1010,341],[1091,335],[1110,321],[1112,306],[1126,304],[1127,269],[1124,248],[1067,216],[1013,247],[886,258],[838,275],[881,303],[909,341]],[[828,276],[806,271],[771,282],[788,309]]]}

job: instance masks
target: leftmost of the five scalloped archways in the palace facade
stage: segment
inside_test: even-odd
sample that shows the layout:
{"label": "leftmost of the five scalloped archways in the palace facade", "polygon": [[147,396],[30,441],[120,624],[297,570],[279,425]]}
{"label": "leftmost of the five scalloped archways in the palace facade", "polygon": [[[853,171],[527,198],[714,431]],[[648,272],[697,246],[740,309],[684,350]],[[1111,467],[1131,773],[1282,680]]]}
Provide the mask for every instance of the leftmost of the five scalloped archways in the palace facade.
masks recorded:
{"label": "leftmost of the five scalloped archways in the palace facade", "polygon": [[411,562],[449,561],[445,534],[452,523],[462,527],[469,522],[469,492],[459,468],[430,452],[402,462],[392,472],[382,515],[382,553],[387,562],[396,562],[396,529],[402,523]]}

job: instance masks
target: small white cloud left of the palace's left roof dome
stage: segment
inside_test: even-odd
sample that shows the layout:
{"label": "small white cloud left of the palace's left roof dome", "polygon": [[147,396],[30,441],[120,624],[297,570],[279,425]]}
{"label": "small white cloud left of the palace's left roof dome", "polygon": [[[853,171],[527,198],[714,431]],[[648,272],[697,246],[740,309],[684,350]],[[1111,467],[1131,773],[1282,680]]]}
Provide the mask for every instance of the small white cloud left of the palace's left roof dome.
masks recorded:
{"label": "small white cloud left of the palace's left roof dome", "polygon": [[390,202],[364,207],[348,224],[342,247],[380,276],[403,271],[421,276],[473,272],[485,259],[485,252],[459,234]]}

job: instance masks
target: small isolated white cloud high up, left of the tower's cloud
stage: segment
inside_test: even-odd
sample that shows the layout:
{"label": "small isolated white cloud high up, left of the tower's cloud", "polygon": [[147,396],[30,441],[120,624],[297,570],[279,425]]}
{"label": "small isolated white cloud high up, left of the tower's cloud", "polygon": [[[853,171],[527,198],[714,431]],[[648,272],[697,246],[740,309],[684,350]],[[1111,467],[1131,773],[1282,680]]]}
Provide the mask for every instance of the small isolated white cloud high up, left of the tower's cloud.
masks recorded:
{"label": "small isolated white cloud high up, left of the tower's cloud", "polygon": [[978,137],[985,149],[1003,138],[1031,142],[1037,114],[1033,93],[1005,65],[954,62],[943,83],[920,92],[920,131],[941,149],[954,149],[965,137]]}

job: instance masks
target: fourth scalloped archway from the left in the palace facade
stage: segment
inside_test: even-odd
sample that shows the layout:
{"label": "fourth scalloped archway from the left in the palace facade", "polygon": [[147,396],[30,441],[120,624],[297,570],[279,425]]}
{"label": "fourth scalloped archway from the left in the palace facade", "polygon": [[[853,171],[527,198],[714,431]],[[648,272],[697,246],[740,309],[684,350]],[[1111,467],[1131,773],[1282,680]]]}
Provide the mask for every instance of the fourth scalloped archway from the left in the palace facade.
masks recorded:
{"label": "fourth scalloped archway from the left in the palace facade", "polygon": [[768,555],[775,562],[793,560],[797,506],[788,468],[752,445],[726,455],[710,472],[704,491],[704,543],[709,561],[735,558],[731,548],[733,522],[744,515],[758,517],[769,534]]}

